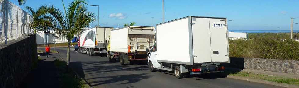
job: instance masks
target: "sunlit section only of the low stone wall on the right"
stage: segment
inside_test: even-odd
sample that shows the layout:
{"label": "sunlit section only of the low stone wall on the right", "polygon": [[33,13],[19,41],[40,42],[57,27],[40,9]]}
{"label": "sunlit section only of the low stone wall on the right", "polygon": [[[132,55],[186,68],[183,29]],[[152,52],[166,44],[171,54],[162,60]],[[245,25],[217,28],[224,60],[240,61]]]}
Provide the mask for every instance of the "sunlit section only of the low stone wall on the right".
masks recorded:
{"label": "sunlit section only of the low stone wall on the right", "polygon": [[299,61],[244,58],[244,68],[299,74]]}

